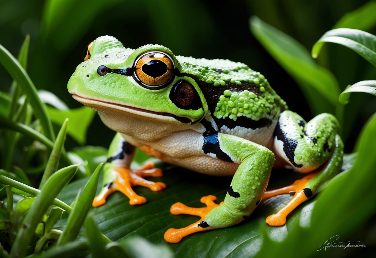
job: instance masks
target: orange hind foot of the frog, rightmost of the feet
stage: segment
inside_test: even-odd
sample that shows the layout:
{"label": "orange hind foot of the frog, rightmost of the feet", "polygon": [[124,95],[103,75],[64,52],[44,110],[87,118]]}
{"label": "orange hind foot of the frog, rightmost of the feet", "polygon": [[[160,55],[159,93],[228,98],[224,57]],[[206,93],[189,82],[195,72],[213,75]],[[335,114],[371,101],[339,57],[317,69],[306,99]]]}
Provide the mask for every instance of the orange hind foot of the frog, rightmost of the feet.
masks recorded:
{"label": "orange hind foot of the frog, rightmost of the feet", "polygon": [[[277,214],[268,216],[265,220],[270,226],[283,226],[286,224],[286,217],[293,211],[298,205],[308,200],[312,196],[312,191],[309,188],[305,188],[306,183],[312,179],[318,172],[310,173],[302,179],[296,180],[293,184],[279,189],[265,191],[262,200],[267,200],[270,197],[279,194],[294,194],[293,199],[290,200],[283,208],[281,208]],[[311,191],[311,193],[309,193]]]}

